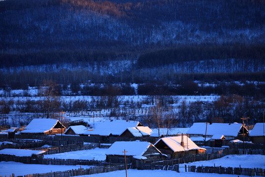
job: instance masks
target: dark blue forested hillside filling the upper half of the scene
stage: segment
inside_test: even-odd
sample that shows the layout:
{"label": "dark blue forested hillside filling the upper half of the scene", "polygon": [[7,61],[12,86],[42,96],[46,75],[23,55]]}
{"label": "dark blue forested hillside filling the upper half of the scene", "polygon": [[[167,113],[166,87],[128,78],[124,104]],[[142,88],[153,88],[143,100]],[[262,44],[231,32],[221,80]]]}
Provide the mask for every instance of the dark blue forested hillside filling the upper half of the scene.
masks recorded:
{"label": "dark blue forested hillside filling the upper half of the scene", "polygon": [[0,87],[264,81],[264,28],[265,0],[2,0]]}

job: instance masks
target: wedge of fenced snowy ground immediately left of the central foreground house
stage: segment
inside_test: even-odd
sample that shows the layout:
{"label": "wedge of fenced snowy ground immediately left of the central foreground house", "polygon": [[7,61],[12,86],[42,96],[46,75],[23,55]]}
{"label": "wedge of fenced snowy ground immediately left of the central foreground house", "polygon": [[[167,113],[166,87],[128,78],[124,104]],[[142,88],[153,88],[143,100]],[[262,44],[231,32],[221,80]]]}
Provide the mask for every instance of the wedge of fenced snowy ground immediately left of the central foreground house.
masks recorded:
{"label": "wedge of fenced snowy ground immediately left of the central foreground house", "polygon": [[82,159],[82,160],[106,160],[107,148],[95,148],[57,154],[44,155],[44,158],[56,159]]}

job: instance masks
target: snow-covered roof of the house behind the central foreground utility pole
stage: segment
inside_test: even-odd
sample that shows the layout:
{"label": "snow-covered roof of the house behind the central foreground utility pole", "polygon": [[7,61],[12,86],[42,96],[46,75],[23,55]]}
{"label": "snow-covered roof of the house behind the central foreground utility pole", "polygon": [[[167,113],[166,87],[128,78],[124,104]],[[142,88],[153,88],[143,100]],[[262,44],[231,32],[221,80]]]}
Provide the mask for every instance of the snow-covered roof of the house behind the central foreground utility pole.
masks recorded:
{"label": "snow-covered roof of the house behind the central foreground utility pole", "polygon": [[143,155],[144,152],[151,146],[152,144],[149,142],[115,142],[108,148],[106,151],[106,155],[124,155],[124,149],[126,155]]}

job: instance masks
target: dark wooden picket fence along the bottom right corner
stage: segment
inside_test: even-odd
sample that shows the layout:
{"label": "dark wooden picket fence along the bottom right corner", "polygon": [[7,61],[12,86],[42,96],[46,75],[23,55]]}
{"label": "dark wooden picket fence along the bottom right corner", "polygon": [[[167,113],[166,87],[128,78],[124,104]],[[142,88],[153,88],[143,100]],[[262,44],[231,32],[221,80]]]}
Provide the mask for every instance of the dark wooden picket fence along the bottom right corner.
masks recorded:
{"label": "dark wooden picket fence along the bottom right corner", "polygon": [[197,172],[197,173],[245,175],[245,176],[251,176],[251,177],[256,175],[256,176],[265,177],[265,169],[261,169],[261,168],[188,166],[188,171]]}

